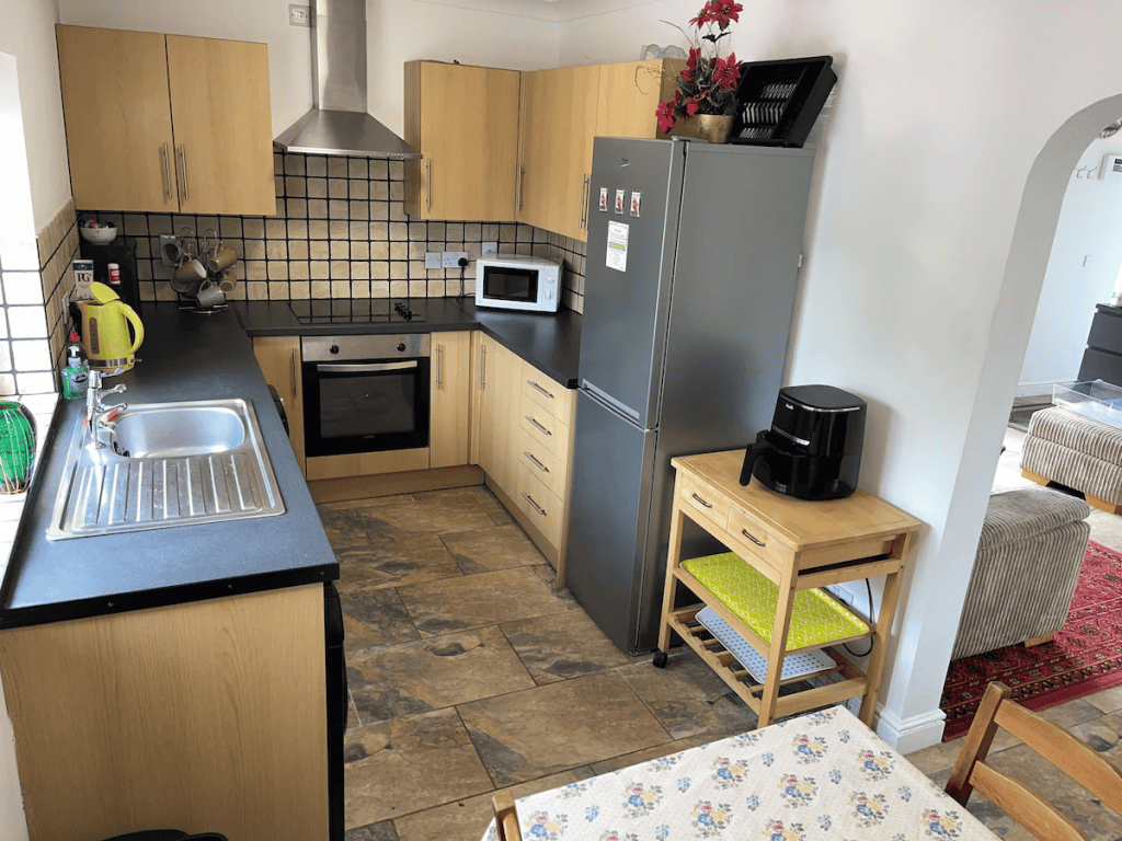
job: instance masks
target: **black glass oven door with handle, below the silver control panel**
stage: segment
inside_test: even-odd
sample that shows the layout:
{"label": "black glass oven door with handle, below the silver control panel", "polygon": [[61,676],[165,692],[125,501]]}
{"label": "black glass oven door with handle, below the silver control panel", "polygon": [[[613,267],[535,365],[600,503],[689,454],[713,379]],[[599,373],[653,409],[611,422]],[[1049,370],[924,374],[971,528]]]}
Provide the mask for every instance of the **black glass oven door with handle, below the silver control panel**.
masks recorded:
{"label": "black glass oven door with handle, below the silver control panel", "polygon": [[307,455],[429,446],[429,360],[304,364]]}

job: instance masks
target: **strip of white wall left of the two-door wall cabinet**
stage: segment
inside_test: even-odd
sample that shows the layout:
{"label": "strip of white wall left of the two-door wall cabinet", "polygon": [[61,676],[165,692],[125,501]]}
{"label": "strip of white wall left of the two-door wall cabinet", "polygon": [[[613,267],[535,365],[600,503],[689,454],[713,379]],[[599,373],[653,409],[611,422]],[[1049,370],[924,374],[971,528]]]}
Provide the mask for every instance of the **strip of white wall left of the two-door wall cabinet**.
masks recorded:
{"label": "strip of white wall left of the two-door wall cabinet", "polygon": [[[43,230],[71,197],[55,47],[56,0],[4,0],[0,53],[16,57],[35,205]],[[38,267],[36,267],[38,268]]]}

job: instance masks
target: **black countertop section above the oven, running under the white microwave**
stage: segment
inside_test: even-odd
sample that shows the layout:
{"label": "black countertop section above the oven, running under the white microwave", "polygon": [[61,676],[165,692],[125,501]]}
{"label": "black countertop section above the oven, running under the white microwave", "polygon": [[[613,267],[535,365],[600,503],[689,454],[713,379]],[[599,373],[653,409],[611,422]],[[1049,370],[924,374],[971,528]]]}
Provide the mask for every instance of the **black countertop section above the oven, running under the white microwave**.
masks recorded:
{"label": "black countertop section above the oven, running under the white microwave", "polygon": [[[305,306],[309,302],[294,302]],[[350,312],[366,312],[369,299],[321,301],[334,306],[340,318]],[[397,303],[386,302],[392,305]],[[414,302],[422,304],[422,302]],[[250,336],[266,335],[353,335],[364,333],[434,333],[447,330],[482,330],[499,344],[551,377],[565,388],[577,388],[580,363],[580,314],[571,309],[558,313],[518,313],[482,309],[471,298],[425,298],[424,321],[328,321],[306,323],[296,317],[286,301],[237,302],[231,305]],[[420,306],[417,307],[421,308]]]}

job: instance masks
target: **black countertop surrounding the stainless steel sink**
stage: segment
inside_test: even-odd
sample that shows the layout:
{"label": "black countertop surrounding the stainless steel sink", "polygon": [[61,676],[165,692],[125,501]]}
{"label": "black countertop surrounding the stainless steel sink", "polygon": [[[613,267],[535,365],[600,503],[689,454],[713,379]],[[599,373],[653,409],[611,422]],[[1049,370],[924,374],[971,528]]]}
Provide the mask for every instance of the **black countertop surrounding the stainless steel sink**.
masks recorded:
{"label": "black countertop surrounding the stainless steel sink", "polygon": [[[145,304],[145,343],[123,382],[128,403],[252,401],[284,500],[278,517],[47,540],[71,431],[84,400],[59,400],[0,589],[0,628],[177,604],[339,577],[252,345],[233,313]],[[107,403],[119,400],[111,397]]]}

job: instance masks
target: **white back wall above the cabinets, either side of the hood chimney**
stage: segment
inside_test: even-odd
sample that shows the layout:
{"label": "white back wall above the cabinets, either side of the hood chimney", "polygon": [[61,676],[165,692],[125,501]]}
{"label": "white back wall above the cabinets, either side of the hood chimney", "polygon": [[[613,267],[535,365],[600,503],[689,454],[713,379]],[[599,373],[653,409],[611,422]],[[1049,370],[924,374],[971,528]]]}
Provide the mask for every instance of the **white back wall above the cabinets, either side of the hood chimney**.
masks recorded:
{"label": "white back wall above the cabinets, either side of the hood chimney", "polygon": [[[75,26],[267,44],[273,136],[312,107],[311,31],[288,25],[287,0],[194,0],[190,11],[180,0],[59,0],[59,9],[62,22]],[[550,16],[549,4],[513,0],[367,0],[370,113],[402,132],[403,65],[414,58],[516,70],[557,66],[559,29]]]}

